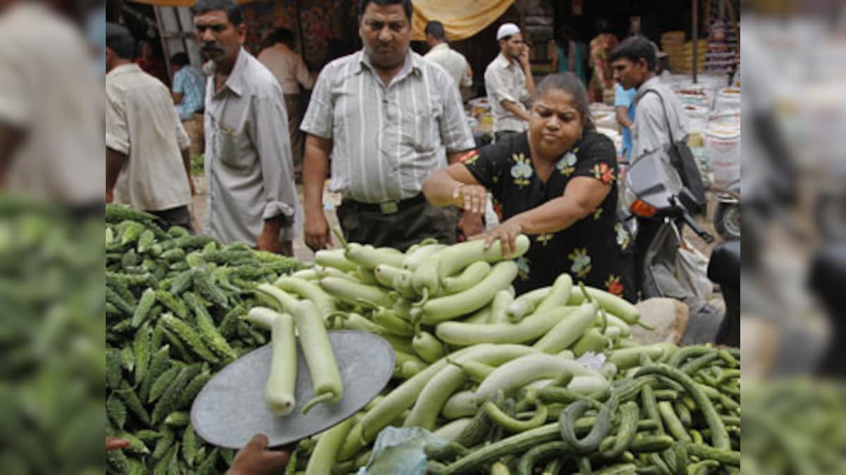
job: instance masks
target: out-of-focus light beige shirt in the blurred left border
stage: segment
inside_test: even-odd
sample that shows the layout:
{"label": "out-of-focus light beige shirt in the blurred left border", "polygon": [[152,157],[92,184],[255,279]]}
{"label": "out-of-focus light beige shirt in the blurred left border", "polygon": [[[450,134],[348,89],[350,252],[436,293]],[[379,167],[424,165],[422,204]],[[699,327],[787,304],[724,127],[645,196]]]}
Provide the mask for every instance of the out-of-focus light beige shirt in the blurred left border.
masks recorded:
{"label": "out-of-focus light beige shirt in the blurred left border", "polygon": [[25,132],[8,188],[63,205],[106,194],[103,82],[74,25],[38,2],[0,15],[0,122]]}

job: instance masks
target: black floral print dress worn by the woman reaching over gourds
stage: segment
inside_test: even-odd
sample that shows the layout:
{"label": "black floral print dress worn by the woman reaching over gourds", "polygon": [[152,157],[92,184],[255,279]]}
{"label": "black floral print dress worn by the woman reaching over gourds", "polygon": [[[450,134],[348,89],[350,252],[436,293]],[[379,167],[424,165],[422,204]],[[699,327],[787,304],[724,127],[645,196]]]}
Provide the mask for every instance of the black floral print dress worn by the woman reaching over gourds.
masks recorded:
{"label": "black floral print dress worn by the woman reaching over gourds", "polygon": [[573,177],[592,177],[611,184],[591,216],[559,232],[530,236],[529,252],[517,260],[517,293],[552,285],[563,272],[574,282],[602,288],[634,301],[634,243],[618,220],[617,157],[611,139],[585,131],[543,183],[532,165],[527,134],[508,136],[496,144],[470,151],[461,160],[493,196],[500,221],[532,210],[564,194]]}

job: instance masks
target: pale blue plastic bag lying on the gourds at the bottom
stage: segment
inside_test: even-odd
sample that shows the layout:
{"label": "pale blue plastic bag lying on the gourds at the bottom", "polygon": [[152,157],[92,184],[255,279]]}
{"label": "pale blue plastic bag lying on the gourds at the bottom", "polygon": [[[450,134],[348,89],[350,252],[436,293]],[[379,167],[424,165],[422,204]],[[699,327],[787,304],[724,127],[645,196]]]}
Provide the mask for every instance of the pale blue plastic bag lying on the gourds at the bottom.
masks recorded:
{"label": "pale blue plastic bag lying on the gourds at the bottom", "polygon": [[371,458],[358,475],[425,475],[426,447],[437,450],[445,445],[446,440],[426,429],[387,427],[376,437]]}

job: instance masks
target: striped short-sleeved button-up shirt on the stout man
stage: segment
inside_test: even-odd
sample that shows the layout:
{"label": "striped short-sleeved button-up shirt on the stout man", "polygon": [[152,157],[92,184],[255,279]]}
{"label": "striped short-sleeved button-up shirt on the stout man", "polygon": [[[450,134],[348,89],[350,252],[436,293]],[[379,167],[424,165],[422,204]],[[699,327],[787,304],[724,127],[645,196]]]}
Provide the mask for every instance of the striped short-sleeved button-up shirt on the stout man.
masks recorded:
{"label": "striped short-sleeved button-up shirt on the stout man", "polygon": [[415,52],[387,87],[364,51],[327,64],[300,128],[332,139],[330,189],[365,203],[419,194],[447,153],[475,146],[455,82]]}

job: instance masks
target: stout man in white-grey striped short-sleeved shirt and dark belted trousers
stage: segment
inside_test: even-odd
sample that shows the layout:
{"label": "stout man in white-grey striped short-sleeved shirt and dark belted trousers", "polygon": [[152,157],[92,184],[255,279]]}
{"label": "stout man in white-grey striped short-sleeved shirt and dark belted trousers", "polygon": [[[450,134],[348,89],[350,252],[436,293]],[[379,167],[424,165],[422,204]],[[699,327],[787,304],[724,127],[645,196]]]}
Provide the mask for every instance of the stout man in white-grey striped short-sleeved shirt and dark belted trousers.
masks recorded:
{"label": "stout man in white-grey striped short-sleeved shirt and dark belted trousers", "polygon": [[448,73],[409,51],[409,0],[365,0],[364,49],[327,64],[300,127],[305,141],[305,243],[331,243],[323,182],[332,157],[338,220],[352,242],[405,249],[455,239],[455,210],[420,194],[433,170],[474,148],[459,90]]}

